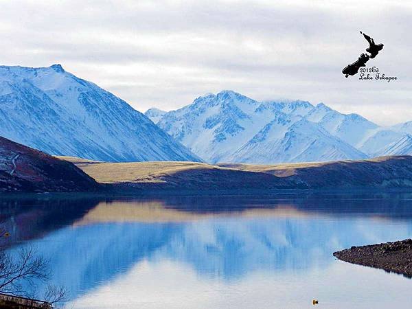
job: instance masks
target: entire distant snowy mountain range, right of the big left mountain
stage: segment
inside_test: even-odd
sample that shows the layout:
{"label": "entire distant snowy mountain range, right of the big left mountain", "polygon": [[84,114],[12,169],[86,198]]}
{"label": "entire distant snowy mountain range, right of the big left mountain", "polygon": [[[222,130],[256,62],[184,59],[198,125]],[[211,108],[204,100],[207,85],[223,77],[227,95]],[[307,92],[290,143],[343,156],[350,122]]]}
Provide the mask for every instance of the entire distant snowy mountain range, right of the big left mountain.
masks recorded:
{"label": "entire distant snowy mountain range, right of the big left mountain", "polygon": [[[258,102],[233,91],[203,95],[153,122],[208,162],[279,163],[385,155],[411,126],[383,128],[323,103]],[[398,153],[402,155],[403,153]]]}

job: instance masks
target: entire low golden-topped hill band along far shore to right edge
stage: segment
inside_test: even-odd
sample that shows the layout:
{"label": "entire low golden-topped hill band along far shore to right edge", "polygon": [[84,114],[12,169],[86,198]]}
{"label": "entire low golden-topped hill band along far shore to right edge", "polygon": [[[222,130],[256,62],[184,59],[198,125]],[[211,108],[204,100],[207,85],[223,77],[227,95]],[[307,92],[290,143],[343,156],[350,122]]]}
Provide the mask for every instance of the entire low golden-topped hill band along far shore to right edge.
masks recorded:
{"label": "entire low golden-topped hill band along far shore to right edge", "polygon": [[412,187],[412,157],[251,165],[195,162],[71,161],[99,183],[144,190],[264,190]]}

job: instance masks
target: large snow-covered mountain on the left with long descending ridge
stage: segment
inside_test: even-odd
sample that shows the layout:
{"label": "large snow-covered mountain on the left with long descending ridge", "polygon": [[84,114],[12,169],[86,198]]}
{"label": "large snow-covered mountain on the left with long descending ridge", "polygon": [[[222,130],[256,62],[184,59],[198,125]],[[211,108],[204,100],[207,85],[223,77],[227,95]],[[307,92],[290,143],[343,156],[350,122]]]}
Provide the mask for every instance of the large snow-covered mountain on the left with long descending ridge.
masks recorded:
{"label": "large snow-covered mountain on the left with long descending ridge", "polygon": [[51,67],[0,67],[0,135],[51,155],[199,161],[112,93]]}

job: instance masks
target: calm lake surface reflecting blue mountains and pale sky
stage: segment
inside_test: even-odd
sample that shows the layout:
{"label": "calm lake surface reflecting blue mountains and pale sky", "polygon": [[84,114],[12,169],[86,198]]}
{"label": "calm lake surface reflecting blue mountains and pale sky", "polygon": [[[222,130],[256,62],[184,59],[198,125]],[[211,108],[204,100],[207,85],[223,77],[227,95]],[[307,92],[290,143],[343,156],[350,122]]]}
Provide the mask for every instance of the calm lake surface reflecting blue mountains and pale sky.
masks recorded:
{"label": "calm lake surface reflecting blue mountains and pale sky", "polygon": [[336,260],[412,238],[412,194],[1,198],[8,250],[49,258],[66,308],[404,308],[412,281]]}

